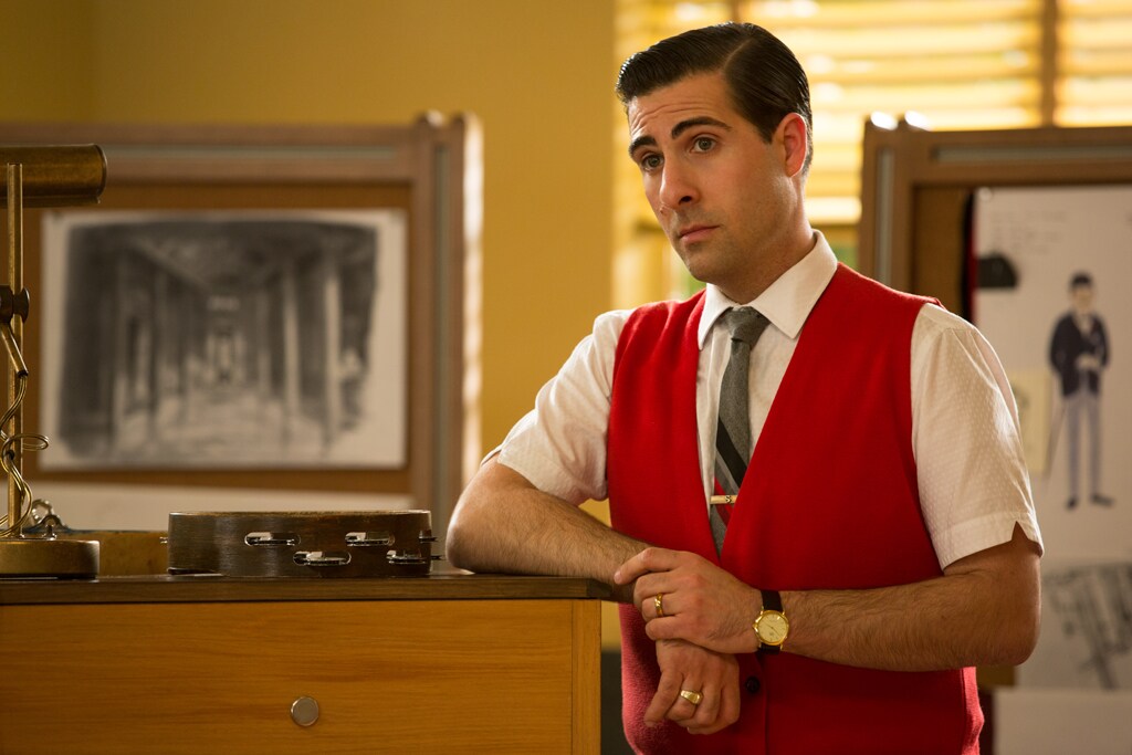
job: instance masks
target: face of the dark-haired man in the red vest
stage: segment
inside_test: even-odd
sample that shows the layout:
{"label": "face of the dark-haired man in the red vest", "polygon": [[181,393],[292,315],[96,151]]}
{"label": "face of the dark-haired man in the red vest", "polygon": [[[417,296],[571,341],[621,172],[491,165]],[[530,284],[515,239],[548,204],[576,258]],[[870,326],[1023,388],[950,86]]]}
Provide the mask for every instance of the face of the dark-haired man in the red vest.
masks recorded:
{"label": "face of the dark-haired man in the red vest", "polygon": [[[783,125],[791,118],[800,120]],[[754,298],[783,254],[788,221],[801,212],[784,126],[765,143],[718,72],[634,98],[628,125],[645,197],[688,271],[736,301]],[[801,137],[804,149],[804,128]]]}

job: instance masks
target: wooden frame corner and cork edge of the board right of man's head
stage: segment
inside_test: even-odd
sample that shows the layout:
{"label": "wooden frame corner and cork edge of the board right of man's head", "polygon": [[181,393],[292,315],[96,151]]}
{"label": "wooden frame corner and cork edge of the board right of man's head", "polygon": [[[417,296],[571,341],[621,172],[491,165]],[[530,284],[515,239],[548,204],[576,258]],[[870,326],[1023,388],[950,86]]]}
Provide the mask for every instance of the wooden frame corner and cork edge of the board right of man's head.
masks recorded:
{"label": "wooden frame corner and cork edge of the board right of man's head", "polygon": [[964,316],[977,189],[1132,183],[1132,127],[929,131],[869,121],[863,149],[860,272]]}

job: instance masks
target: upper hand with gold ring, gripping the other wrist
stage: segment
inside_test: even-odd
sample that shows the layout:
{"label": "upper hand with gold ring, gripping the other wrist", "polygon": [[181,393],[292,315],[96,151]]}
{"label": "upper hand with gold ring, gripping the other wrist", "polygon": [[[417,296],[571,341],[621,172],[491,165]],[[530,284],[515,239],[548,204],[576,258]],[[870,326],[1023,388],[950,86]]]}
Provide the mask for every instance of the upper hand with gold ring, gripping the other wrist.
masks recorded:
{"label": "upper hand with gold ring, gripping the other wrist", "polygon": [[711,561],[686,551],[645,548],[614,574],[617,584],[634,580],[633,602],[652,640],[686,640],[718,653],[757,650],[752,624],[762,595]]}

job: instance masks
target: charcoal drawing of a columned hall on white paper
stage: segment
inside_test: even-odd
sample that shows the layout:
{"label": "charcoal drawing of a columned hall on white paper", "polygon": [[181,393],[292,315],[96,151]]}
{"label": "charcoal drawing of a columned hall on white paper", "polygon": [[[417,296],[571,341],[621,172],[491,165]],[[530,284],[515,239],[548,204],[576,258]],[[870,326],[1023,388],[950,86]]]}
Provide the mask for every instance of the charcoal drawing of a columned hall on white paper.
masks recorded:
{"label": "charcoal drawing of a columned hall on white paper", "polygon": [[43,217],[44,470],[400,469],[403,209]]}

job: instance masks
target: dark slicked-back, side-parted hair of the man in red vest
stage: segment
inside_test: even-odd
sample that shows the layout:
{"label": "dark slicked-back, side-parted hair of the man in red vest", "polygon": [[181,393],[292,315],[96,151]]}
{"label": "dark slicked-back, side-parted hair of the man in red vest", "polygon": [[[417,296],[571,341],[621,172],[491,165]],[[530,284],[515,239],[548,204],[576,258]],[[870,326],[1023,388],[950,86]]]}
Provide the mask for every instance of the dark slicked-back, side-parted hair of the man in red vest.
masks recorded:
{"label": "dark slicked-back, side-parted hair of the man in red vest", "polygon": [[720,24],[661,40],[621,66],[617,96],[628,108],[634,97],[695,74],[720,71],[735,109],[766,141],[782,119],[806,121],[806,170],[814,153],[809,83],[801,63],[782,41],[754,24]]}

